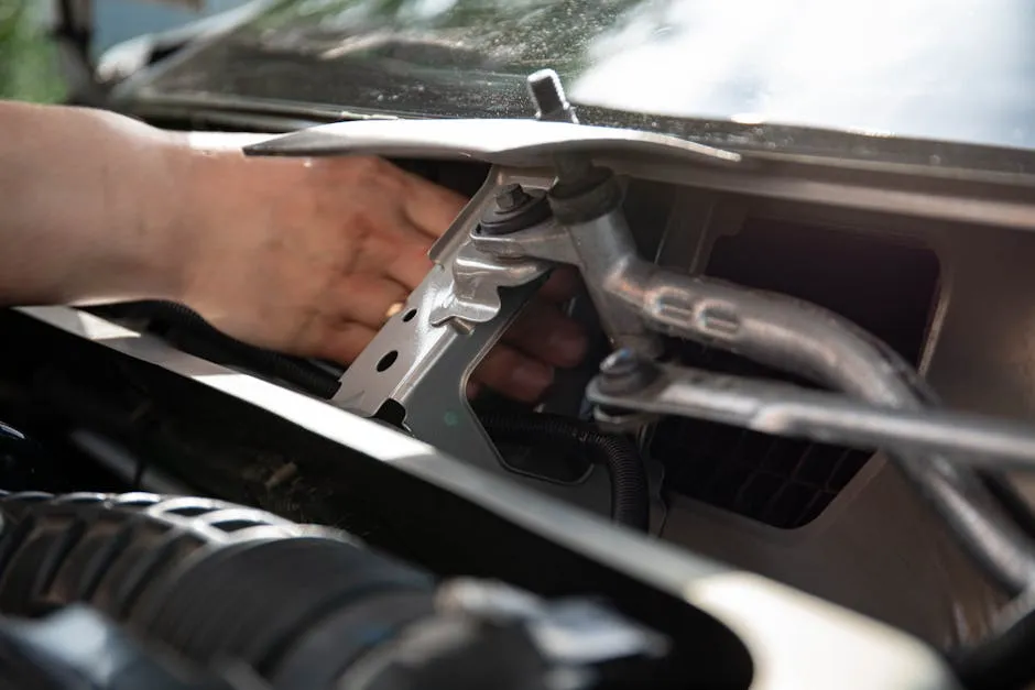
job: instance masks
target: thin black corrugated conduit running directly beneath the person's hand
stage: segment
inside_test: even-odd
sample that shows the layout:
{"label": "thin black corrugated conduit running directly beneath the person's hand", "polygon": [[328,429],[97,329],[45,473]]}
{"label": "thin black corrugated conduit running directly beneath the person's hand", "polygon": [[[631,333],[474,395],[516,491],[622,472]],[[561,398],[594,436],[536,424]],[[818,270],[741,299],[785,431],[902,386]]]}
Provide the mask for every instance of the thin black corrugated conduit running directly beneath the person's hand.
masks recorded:
{"label": "thin black corrugated conduit running directly beneath the person's hand", "polygon": [[317,397],[330,399],[340,386],[338,380],[327,371],[304,359],[255,348],[227,336],[185,305],[161,300],[140,302],[130,307],[130,313],[138,317],[161,319],[182,328],[204,346],[211,348],[218,357],[259,374],[275,376]]}

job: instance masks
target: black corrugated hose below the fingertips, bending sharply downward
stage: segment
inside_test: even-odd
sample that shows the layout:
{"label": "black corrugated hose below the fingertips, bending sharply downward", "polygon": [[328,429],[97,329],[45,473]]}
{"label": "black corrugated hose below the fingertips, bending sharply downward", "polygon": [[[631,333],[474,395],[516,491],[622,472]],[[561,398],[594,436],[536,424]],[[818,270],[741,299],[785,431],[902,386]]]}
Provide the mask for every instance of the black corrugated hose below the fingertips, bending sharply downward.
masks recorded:
{"label": "black corrugated hose below the fingertips, bending sharply downward", "polygon": [[537,414],[489,414],[481,425],[494,441],[522,446],[559,446],[588,453],[608,468],[611,477],[611,518],[646,532],[651,523],[651,501],[646,469],[636,447],[622,436],[603,434],[591,424]]}

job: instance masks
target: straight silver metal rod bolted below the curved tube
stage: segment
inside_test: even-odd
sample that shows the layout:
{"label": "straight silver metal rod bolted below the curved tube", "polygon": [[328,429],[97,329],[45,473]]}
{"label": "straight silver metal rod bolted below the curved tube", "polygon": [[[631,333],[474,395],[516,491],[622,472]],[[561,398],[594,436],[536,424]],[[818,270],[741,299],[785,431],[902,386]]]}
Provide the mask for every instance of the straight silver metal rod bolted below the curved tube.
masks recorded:
{"label": "straight silver metal rod bolted below the curved tube", "polygon": [[[682,415],[822,443],[941,453],[965,466],[1035,471],[1028,424],[941,409],[892,409],[791,384],[661,365],[661,379],[611,393],[601,379],[586,392],[606,407]],[[928,456],[929,457],[929,456]]]}

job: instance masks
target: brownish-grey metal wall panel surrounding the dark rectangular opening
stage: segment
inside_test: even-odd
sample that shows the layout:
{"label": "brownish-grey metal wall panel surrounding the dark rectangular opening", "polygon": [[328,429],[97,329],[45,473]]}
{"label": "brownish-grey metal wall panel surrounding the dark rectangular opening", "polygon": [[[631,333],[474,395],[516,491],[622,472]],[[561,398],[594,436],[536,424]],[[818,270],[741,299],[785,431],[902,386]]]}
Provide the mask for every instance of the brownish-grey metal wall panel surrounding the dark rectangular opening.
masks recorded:
{"label": "brownish-grey metal wall panel surrounding the dark rectangular opening", "polygon": [[[834,242],[868,237],[927,248],[940,264],[941,284],[917,355],[919,371],[954,410],[1035,420],[1028,404],[1035,369],[1026,363],[1031,339],[1024,326],[1035,294],[1028,269],[1035,236],[860,211],[841,205],[849,191],[831,197],[838,205],[813,205],[687,189],[672,209],[655,261],[706,273],[712,248],[742,232],[745,217],[829,228]],[[872,274],[874,281],[886,276]],[[1035,496],[1029,473],[1011,477],[1017,491]],[[678,496],[669,507],[665,539],[865,612],[939,648],[983,639],[1007,604],[883,452],[797,529],[767,527]]]}

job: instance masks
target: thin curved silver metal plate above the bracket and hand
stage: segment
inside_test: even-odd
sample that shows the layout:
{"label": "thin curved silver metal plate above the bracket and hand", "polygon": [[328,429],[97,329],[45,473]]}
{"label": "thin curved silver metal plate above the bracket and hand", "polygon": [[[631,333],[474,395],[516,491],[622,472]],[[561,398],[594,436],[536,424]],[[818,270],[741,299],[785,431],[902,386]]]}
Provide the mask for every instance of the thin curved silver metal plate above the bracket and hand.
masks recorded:
{"label": "thin curved silver metal plate above the bracket and hand", "polygon": [[320,124],[244,147],[247,155],[371,153],[394,157],[475,160],[493,165],[551,165],[558,153],[737,165],[738,153],[639,130],[540,120],[363,120]]}

